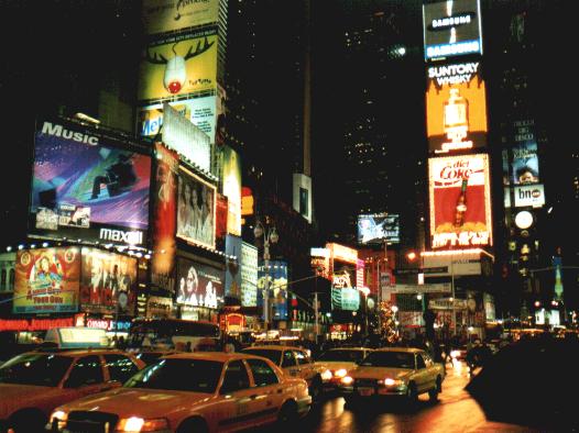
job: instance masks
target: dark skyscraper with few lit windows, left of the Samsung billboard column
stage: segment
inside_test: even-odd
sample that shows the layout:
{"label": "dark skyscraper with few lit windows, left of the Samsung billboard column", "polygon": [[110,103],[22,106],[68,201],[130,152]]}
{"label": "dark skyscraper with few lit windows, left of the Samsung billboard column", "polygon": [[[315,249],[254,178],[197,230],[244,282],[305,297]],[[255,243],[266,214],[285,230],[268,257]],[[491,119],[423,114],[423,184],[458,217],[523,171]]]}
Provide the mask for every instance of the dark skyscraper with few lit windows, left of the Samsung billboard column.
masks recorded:
{"label": "dark skyscraper with few lit windows, left of the Samsung billboard column", "polygon": [[335,24],[319,35],[317,86],[339,91],[326,92],[314,116],[325,126],[325,232],[352,245],[359,214],[389,212],[400,214],[402,243],[415,246],[426,190],[420,4],[342,2],[326,20]]}

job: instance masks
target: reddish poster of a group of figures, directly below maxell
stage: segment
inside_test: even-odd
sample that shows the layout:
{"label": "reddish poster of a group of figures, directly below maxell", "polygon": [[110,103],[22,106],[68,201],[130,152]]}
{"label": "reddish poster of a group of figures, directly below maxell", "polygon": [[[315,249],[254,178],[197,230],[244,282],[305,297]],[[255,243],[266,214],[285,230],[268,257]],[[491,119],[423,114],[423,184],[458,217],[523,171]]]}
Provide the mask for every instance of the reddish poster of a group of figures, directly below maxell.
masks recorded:
{"label": "reddish poster of a group of figures, directly below maxell", "polygon": [[136,258],[83,247],[80,303],[92,313],[133,315],[136,304]]}

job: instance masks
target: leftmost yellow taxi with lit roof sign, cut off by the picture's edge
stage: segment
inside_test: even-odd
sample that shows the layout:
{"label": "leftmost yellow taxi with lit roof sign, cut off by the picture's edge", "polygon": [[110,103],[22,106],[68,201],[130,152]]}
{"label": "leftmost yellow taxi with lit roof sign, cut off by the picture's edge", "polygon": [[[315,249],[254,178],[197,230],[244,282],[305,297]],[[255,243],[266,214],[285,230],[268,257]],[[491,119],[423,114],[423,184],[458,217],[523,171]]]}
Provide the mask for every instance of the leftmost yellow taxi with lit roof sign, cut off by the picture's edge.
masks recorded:
{"label": "leftmost yellow taxi with lit roof sign, cut off by the picture's edge", "polygon": [[[86,336],[87,329],[81,330]],[[74,329],[62,331],[76,348],[57,341],[56,347],[26,352],[0,366],[0,432],[41,431],[57,406],[120,387],[145,366],[119,349],[80,348],[86,342]]]}

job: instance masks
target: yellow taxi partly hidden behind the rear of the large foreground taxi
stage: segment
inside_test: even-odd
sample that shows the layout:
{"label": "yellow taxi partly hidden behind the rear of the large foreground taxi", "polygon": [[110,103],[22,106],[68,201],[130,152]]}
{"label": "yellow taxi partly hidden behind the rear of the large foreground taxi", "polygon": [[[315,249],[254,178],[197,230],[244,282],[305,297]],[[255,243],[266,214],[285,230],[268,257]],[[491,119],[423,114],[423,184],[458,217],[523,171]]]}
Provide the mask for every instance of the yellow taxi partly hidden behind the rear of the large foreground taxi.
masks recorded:
{"label": "yellow taxi partly hidden behind the rear of the large foreground taxi", "polygon": [[314,401],[317,401],[321,396],[324,368],[314,364],[305,348],[287,345],[259,345],[245,347],[241,353],[267,358],[278,366],[285,375],[301,377],[307,382],[309,395]]}

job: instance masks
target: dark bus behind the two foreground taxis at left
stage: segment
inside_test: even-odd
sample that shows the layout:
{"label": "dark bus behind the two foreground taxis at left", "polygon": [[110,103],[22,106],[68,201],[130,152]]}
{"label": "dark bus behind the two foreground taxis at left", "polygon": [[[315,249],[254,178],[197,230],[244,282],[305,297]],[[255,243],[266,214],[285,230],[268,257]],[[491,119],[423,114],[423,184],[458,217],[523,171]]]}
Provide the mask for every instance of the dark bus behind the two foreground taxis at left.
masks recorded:
{"label": "dark bus behind the two foreground taxis at left", "polygon": [[203,351],[217,346],[221,330],[217,323],[185,319],[135,319],[128,336],[130,351]]}

